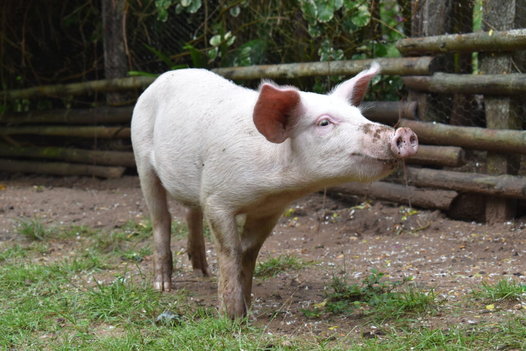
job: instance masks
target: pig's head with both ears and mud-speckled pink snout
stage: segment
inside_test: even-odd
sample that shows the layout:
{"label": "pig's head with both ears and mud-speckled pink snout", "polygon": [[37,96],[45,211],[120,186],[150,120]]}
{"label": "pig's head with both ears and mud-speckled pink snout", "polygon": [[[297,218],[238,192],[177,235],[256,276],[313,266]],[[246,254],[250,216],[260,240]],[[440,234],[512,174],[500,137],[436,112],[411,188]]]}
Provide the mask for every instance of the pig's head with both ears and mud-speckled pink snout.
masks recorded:
{"label": "pig's head with both ears and mud-speckled pink snout", "polygon": [[290,145],[288,158],[301,176],[315,182],[371,182],[388,175],[404,157],[417,153],[409,128],[394,129],[369,121],[359,105],[371,68],[327,95],[264,83],[254,107],[254,124],[269,142]]}

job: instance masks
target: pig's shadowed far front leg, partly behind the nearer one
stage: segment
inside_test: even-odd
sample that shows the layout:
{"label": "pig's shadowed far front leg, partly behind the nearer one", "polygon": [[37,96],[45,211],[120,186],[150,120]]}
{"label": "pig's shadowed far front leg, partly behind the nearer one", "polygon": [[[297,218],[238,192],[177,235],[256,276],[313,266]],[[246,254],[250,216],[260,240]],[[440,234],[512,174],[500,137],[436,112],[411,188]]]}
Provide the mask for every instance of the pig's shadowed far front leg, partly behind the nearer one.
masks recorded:
{"label": "pig's shadowed far front leg, partly behind the nearer one", "polygon": [[252,277],[254,276],[259,249],[276,226],[281,213],[278,212],[274,215],[259,218],[247,216],[245,220],[245,226],[241,234],[241,279],[247,308],[250,308],[251,305]]}

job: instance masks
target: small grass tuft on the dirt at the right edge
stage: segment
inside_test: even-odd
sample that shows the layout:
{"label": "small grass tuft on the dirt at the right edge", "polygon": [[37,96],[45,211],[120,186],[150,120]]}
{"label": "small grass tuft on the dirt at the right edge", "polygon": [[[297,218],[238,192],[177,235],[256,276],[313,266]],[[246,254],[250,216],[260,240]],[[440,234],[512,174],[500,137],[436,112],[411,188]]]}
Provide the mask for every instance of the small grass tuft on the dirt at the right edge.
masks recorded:
{"label": "small grass tuft on the dirt at the right edge", "polygon": [[502,278],[497,284],[482,282],[478,290],[473,289],[473,295],[481,300],[498,302],[503,300],[521,300],[526,298],[526,285],[518,280]]}

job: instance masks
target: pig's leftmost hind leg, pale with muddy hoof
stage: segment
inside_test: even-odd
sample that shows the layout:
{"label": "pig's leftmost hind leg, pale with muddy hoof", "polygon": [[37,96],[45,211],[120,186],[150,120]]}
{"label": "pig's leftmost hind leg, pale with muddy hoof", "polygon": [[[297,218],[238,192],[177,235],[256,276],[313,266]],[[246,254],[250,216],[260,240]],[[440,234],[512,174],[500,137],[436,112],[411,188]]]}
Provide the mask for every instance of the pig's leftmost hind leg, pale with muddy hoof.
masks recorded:
{"label": "pig's leftmost hind leg, pale with muddy hoof", "polygon": [[139,166],[137,171],[154,233],[154,289],[169,291],[173,260],[170,250],[171,216],[166,190],[153,169]]}

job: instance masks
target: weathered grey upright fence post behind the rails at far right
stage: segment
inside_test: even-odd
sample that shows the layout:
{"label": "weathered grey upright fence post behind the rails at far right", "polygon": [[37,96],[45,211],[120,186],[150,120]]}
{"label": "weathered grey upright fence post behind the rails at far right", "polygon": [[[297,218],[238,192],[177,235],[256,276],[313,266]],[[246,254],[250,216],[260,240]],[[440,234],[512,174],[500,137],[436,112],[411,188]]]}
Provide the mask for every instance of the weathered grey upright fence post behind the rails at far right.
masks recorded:
{"label": "weathered grey upright fence post behind the rails at far right", "polygon": [[[486,0],[483,5],[484,31],[500,31],[526,26],[526,0]],[[523,57],[511,52],[479,53],[480,71],[483,74],[508,74],[518,72],[524,63]],[[521,109],[524,111],[522,96],[484,96],[486,126],[494,129],[522,129]],[[488,174],[517,174],[520,155],[488,152]],[[517,200],[488,197],[486,221],[498,223],[515,216]]]}

